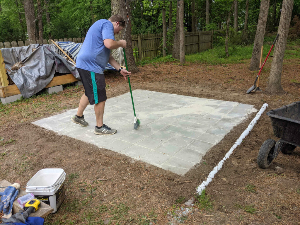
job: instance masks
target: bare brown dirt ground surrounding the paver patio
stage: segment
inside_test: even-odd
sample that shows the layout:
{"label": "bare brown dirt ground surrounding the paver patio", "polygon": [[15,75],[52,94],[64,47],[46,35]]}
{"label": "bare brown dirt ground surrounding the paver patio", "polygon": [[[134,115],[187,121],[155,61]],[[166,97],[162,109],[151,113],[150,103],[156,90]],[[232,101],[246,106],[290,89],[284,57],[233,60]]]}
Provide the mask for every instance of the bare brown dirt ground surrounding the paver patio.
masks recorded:
{"label": "bare brown dirt ground surrounding the paver patio", "polygon": [[[287,93],[246,94],[257,71],[241,64],[207,65],[174,62],[149,64],[132,75],[133,89],[146,89],[200,98],[237,101],[266,112],[300,101],[300,64],[284,60],[282,86]],[[265,90],[271,59],[263,69],[260,88]],[[107,95],[112,98],[129,91],[117,73],[107,73]],[[9,182],[26,183],[43,168],[63,168],[67,173],[66,199],[45,224],[160,224],[166,225],[176,209],[205,180],[212,168],[232,147],[255,114],[237,125],[185,176],[179,176],[106,149],[57,135],[30,124],[35,120],[76,108],[83,87],[64,88],[62,93],[3,106],[1,116],[0,175]],[[143,118],[140,118],[143,122]],[[4,138],[4,139],[3,139]],[[300,224],[300,148],[291,155],[280,153],[267,169],[256,164],[261,144],[274,137],[265,113],[238,146],[206,189],[212,208],[195,202],[193,214],[182,217],[184,224]],[[274,167],[283,168],[283,174]]]}

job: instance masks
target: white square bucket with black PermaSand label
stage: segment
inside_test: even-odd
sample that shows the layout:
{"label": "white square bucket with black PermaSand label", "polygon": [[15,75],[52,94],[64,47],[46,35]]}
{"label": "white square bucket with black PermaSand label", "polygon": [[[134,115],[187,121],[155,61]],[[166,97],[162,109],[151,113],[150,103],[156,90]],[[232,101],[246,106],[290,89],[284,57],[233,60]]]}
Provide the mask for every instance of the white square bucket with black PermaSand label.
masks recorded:
{"label": "white square bucket with black PermaSand label", "polygon": [[50,205],[55,213],[64,201],[64,180],[66,173],[63,169],[42,169],[29,180],[26,192],[33,193],[37,199]]}

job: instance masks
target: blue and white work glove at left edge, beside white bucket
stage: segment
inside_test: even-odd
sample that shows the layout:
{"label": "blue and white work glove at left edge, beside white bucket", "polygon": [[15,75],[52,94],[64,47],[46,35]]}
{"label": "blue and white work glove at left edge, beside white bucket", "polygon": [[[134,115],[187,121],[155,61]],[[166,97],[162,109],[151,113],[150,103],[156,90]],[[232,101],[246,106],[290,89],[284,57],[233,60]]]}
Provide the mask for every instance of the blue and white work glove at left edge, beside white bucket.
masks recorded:
{"label": "blue and white work glove at left edge, beside white bucket", "polygon": [[0,211],[3,210],[2,218],[9,218],[11,216],[11,210],[13,208],[13,201],[16,199],[16,196],[19,194],[20,184],[14,183],[3,192],[0,192]]}

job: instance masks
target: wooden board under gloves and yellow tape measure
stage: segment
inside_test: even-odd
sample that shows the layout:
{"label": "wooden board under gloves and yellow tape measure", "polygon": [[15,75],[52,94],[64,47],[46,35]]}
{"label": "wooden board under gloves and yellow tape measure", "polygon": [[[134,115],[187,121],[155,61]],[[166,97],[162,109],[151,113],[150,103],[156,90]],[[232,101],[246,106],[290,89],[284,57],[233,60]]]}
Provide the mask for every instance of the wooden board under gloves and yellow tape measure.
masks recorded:
{"label": "wooden board under gloves and yellow tape measure", "polygon": [[[0,187],[7,187],[7,186],[10,186],[12,185],[10,182],[8,182],[7,180],[1,180],[0,181]],[[4,191],[5,188],[0,188],[0,192]],[[20,209],[22,209],[20,206],[19,206],[19,202],[17,201],[17,199],[23,195],[26,195],[28,194],[27,192],[19,189],[19,194],[18,196],[16,197],[15,201],[13,202],[13,214],[19,212]],[[29,216],[32,216],[32,217],[46,217],[46,215],[50,214],[51,212],[53,211],[53,208],[50,207],[50,205],[47,205],[46,203],[44,202],[41,202],[41,208],[38,209],[38,211],[30,214]]]}

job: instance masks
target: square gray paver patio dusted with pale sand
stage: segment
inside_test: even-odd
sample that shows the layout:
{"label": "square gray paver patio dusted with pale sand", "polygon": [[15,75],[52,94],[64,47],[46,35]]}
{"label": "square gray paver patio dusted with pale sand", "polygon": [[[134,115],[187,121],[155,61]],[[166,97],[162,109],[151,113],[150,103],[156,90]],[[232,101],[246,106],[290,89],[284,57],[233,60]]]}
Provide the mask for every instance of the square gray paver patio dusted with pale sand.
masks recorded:
{"label": "square gray paver patio dusted with pale sand", "polygon": [[252,105],[238,102],[147,90],[134,90],[132,94],[141,121],[137,130],[133,129],[130,92],[106,101],[103,120],[117,129],[113,135],[94,134],[93,105],[88,105],[84,112],[87,127],[71,122],[77,109],[33,124],[184,175],[235,125],[257,111]]}

